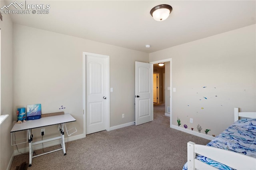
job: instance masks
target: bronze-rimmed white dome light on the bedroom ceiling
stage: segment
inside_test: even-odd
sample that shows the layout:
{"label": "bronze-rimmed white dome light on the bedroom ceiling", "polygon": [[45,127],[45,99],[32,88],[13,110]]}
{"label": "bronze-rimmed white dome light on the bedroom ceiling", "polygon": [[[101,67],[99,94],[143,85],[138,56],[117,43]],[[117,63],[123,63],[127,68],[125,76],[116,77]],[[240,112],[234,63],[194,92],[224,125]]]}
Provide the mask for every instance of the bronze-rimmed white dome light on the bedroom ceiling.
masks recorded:
{"label": "bronze-rimmed white dome light on the bedroom ceiling", "polygon": [[156,21],[163,21],[168,18],[170,13],[172,12],[172,7],[170,5],[162,4],[155,6],[150,11],[150,15],[156,20]]}

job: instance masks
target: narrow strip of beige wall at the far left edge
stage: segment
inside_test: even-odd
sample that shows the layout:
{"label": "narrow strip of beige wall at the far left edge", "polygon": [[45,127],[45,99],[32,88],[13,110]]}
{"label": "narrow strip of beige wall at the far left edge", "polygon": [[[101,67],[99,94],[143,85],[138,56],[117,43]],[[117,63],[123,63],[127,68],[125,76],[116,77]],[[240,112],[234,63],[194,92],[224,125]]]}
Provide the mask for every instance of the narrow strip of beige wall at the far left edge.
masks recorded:
{"label": "narrow strip of beige wall at the far left edge", "polygon": [[[0,6],[4,1],[0,2]],[[10,131],[13,126],[13,27],[8,14],[2,14],[1,25],[1,113],[9,115],[0,127],[0,169],[10,166],[13,149],[11,147]]]}

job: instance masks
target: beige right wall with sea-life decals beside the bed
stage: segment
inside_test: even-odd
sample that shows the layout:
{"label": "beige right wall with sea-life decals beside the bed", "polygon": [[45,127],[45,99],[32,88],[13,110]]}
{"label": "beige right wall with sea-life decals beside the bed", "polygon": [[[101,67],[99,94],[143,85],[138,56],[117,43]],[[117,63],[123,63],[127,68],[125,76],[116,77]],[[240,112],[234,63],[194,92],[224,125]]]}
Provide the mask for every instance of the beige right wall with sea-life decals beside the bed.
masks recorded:
{"label": "beige right wall with sea-life decals beside the bed", "polygon": [[234,121],[234,107],[256,111],[255,29],[247,26],[150,53],[150,62],[172,58],[172,125],[179,117],[181,127],[197,131],[200,124],[202,133],[210,129],[209,135],[217,135]]}

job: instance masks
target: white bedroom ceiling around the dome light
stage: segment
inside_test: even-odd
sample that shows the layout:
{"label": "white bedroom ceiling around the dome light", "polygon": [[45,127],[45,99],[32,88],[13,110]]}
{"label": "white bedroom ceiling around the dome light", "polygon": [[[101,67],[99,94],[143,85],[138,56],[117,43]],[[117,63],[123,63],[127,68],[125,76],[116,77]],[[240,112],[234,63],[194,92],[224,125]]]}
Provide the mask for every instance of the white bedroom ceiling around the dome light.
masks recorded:
{"label": "white bedroom ceiling around the dome light", "polygon": [[[6,0],[10,2],[14,0]],[[255,0],[27,0],[26,4],[50,4],[49,14],[12,14],[15,24],[147,53],[256,24]],[[173,8],[162,22],[150,16],[160,4]]]}

